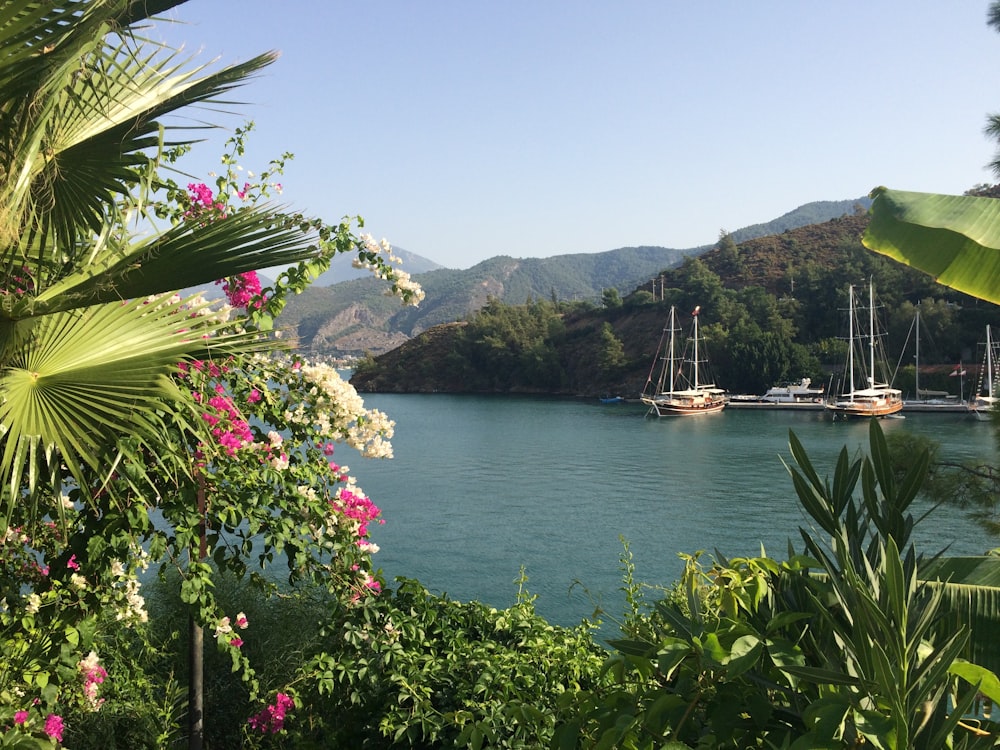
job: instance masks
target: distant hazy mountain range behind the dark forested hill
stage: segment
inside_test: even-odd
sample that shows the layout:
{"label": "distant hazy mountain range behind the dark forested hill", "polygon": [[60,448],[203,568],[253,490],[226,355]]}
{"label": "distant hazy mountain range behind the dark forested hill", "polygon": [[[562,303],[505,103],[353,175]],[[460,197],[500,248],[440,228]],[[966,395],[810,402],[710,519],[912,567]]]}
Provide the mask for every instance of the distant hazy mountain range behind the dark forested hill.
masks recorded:
{"label": "distant hazy mountain range behind the dark forested hill", "polygon": [[[745,241],[780,234],[797,226],[851,215],[869,205],[868,198],[808,203],[772,222],[745,227],[731,236]],[[370,277],[351,278],[313,284],[289,301],[280,322],[284,328],[294,330],[300,348],[313,354],[380,354],[433,326],[466,319],[491,298],[508,304],[529,299],[597,303],[606,289],[627,292],[651,285],[663,270],[713,247],[622,247],[550,258],[496,256],[464,270],[443,268],[420,256],[400,252],[404,258],[401,267],[424,289],[426,296],[419,308],[402,307],[397,300],[386,297],[383,282]],[[407,258],[435,267],[421,272],[416,263],[408,265]],[[347,273],[351,259],[343,257],[335,262],[336,269],[328,272],[333,279]]]}

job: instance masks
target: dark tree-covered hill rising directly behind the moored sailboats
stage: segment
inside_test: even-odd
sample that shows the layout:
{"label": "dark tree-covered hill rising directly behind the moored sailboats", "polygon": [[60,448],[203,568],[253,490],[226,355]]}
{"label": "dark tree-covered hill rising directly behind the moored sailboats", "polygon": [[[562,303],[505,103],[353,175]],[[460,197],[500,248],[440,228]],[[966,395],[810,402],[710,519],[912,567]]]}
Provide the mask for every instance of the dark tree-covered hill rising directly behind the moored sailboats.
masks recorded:
{"label": "dark tree-covered hill rising directly behind the moored sailboats", "polygon": [[[957,362],[978,360],[986,324],[1000,309],[934,283],[861,245],[867,215],[851,215],[742,243],[724,237],[709,252],[664,269],[653,284],[603,304],[540,298],[492,300],[467,322],[435,327],[394,351],[359,363],[360,390],[637,396],[656,356],[671,305],[701,306],[701,333],[717,384],[763,393],[776,382],[826,383],[846,357],[847,286],[873,279],[889,329],[886,348],[908,367],[896,385],[912,390],[904,356],[921,306],[921,386],[951,387]],[[912,340],[908,343],[913,346]],[[931,368],[933,370],[934,368]]]}

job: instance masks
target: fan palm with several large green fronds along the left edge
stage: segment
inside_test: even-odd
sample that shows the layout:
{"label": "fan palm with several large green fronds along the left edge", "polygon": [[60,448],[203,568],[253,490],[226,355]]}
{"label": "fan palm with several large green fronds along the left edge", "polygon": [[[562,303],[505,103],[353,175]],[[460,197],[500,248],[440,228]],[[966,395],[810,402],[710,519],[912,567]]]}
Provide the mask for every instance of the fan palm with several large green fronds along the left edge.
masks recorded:
{"label": "fan palm with several large green fronds along the left edge", "polygon": [[170,310],[153,313],[143,298],[317,256],[312,228],[269,207],[151,237],[128,229],[148,215],[165,142],[160,118],[218,101],[274,59],[199,77],[201,69],[183,70],[166,50],[150,53],[131,30],[177,4],[0,7],[0,481],[8,508],[67,481],[95,491],[122,460],[123,436],[152,443],[165,434],[159,414],[177,395],[165,378],[178,361],[246,343],[211,336],[219,326],[207,317],[197,327],[208,338],[180,331]]}

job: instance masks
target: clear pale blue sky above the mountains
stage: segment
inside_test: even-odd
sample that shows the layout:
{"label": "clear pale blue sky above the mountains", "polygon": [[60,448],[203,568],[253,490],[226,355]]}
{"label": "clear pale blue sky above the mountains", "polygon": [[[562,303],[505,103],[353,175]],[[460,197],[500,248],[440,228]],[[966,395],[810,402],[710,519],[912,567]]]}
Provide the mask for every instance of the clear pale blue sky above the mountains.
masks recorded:
{"label": "clear pale blue sky above the mountains", "polygon": [[[988,0],[192,0],[156,34],[230,63],[296,208],[451,268],[720,230],[877,185],[996,182]],[[214,169],[225,134],[186,161]]]}

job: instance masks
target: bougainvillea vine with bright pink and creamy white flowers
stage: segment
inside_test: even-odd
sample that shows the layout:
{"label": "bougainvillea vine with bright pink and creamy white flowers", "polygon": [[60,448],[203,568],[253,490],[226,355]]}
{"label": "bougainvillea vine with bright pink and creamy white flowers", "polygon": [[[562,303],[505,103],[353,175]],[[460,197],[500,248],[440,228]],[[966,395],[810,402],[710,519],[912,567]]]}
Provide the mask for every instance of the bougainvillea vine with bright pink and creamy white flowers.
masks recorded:
{"label": "bougainvillea vine with bright pink and creamy white flowers", "polygon": [[[275,178],[290,155],[256,176],[237,163],[251,129],[231,139],[214,185],[157,182],[164,197],[156,215],[178,226],[203,225],[280,193]],[[322,585],[343,606],[357,606],[381,590],[371,562],[378,545],[370,538],[382,523],[381,511],[349,467],[334,459],[338,444],[365,457],[391,457],[394,424],[367,409],[333,367],[283,352],[272,328],[287,297],[337,253],[355,253],[405,302],[419,302],[423,292],[389,265],[398,259],[388,244],[356,236],[352,220],[328,226],[301,215],[278,216],[276,221],[316,232],[314,259],[286,269],[266,288],[254,271],[222,279],[226,300],[217,304],[176,295],[146,300],[150,310],[188,316],[192,327],[200,316],[228,321],[248,342],[244,353],[225,359],[178,362],[170,387],[183,398],[162,416],[176,426],[176,442],[123,445],[122,465],[94,477],[95,487],[104,483],[114,493],[88,493],[93,499],[83,503],[76,488],[65,487],[50,515],[33,520],[15,505],[0,527],[0,663],[7,665],[0,669],[0,737],[10,730],[44,738],[49,744],[42,746],[51,747],[68,729],[64,716],[102,709],[116,675],[98,656],[99,635],[148,622],[141,576],[150,565],[180,572],[181,599],[214,630],[218,648],[230,654],[254,697],[261,689],[243,648],[253,631],[244,613],[233,618],[221,610],[212,593],[215,576],[252,573],[253,581],[270,588],[281,563],[289,581]],[[8,275],[0,294],[31,288],[30,275]],[[149,484],[133,482],[129,461],[153,467],[144,474]],[[201,513],[199,492],[208,498]],[[122,505],[124,497],[134,498],[134,505]],[[202,536],[211,564],[189,561]],[[249,726],[279,733],[293,708],[291,694],[279,691]]]}

